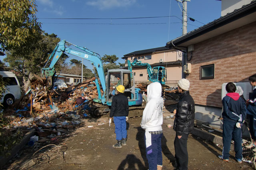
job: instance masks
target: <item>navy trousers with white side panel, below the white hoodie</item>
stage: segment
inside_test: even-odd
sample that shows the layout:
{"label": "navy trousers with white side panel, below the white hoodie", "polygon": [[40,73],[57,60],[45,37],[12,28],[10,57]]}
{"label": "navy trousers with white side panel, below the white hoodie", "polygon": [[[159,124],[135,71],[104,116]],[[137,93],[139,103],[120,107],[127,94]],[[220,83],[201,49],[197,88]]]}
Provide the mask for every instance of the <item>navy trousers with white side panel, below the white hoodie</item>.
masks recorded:
{"label": "navy trousers with white side panel, below the white hoodie", "polygon": [[145,132],[144,141],[149,170],[157,170],[157,165],[163,164],[161,147],[162,136],[163,134],[150,134],[147,131]]}

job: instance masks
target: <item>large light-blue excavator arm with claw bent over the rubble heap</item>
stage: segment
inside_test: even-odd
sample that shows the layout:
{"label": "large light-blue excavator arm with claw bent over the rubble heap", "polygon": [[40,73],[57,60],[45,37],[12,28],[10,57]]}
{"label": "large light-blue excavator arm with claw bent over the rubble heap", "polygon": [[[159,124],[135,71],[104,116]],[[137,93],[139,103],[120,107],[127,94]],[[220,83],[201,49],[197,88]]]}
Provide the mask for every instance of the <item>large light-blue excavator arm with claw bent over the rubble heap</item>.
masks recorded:
{"label": "large light-blue excavator arm with claw bent over the rubble heap", "polygon": [[[46,77],[46,79],[48,80],[49,86],[52,87],[53,77],[54,77],[54,74],[56,73],[54,66],[58,62],[58,60],[60,59],[62,54],[63,53],[72,54],[74,56],[78,56],[80,58],[83,58],[85,60],[88,60],[88,61],[92,62],[92,65],[94,67],[96,67],[97,72],[98,72],[98,76],[100,78],[100,83],[101,83],[102,89],[103,89],[103,95],[101,96],[100,86],[98,84],[98,79],[96,78],[96,74],[94,72],[94,75],[95,75],[95,78],[96,78],[95,84],[97,86],[97,91],[98,91],[98,100],[101,101],[103,104],[105,104],[105,102],[106,102],[106,99],[105,99],[106,80],[105,80],[104,69],[103,69],[102,60],[100,59],[100,55],[95,53],[95,52],[92,52],[92,51],[88,50],[87,48],[76,46],[74,44],[72,44],[72,45],[75,46],[76,48],[82,50],[82,51],[74,50],[72,48],[68,48],[68,47],[65,46],[65,43],[66,43],[66,40],[62,40],[56,45],[56,47],[54,48],[52,54],[50,55],[50,57],[49,57],[49,59],[46,63],[46,65],[47,65],[48,62],[50,60],[52,60],[51,63],[50,63],[50,66],[46,67],[46,65],[45,65],[44,68],[42,69],[42,75],[44,77]],[[68,43],[71,44],[70,42],[68,42]],[[96,101],[96,102],[99,102],[99,101]]]}

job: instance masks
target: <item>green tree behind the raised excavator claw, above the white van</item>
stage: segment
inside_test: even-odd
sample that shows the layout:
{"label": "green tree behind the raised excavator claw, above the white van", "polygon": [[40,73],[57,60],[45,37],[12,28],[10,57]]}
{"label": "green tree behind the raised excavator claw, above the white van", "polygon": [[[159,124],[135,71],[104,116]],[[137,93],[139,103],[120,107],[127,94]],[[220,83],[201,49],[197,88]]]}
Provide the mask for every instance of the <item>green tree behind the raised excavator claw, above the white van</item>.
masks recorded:
{"label": "green tree behind the raised excavator claw, above the white van", "polygon": [[[23,82],[27,88],[28,84],[33,78],[33,74],[41,74],[41,69],[45,66],[50,54],[53,52],[56,44],[60,41],[60,38],[56,34],[43,34],[40,41],[30,46],[30,50],[27,53],[19,53],[16,49],[12,49],[6,52],[6,58],[4,61],[8,63],[12,70],[15,70],[23,77]],[[68,58],[66,54],[63,54],[59,61],[55,64],[55,69],[58,72],[61,65]],[[51,61],[48,62],[50,64]],[[46,65],[47,67],[48,65]]]}

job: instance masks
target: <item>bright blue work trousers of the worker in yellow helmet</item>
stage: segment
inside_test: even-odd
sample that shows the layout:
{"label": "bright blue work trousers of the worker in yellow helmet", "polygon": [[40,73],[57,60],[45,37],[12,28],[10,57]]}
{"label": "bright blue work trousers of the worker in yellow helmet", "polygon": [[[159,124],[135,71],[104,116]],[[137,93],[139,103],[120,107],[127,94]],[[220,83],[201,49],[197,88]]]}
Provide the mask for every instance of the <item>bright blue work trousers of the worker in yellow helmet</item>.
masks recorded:
{"label": "bright blue work trousers of the worker in yellow helmet", "polygon": [[126,116],[114,116],[116,140],[127,138]]}

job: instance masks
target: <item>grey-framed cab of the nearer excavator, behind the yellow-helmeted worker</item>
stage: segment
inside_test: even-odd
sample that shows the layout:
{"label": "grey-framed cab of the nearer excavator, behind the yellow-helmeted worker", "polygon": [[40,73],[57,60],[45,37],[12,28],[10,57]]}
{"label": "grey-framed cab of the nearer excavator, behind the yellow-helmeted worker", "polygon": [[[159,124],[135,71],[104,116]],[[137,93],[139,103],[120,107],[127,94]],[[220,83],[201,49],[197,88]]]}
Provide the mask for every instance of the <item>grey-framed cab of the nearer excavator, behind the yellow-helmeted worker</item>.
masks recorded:
{"label": "grey-framed cab of the nearer excavator, behind the yellow-helmeted worker", "polygon": [[116,87],[118,85],[124,86],[124,95],[128,98],[129,106],[142,104],[142,94],[139,93],[139,88],[135,88],[133,72],[124,69],[108,70],[106,81],[106,103],[108,106],[111,106],[112,98],[116,95]]}

